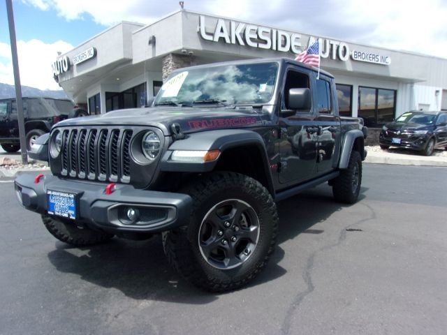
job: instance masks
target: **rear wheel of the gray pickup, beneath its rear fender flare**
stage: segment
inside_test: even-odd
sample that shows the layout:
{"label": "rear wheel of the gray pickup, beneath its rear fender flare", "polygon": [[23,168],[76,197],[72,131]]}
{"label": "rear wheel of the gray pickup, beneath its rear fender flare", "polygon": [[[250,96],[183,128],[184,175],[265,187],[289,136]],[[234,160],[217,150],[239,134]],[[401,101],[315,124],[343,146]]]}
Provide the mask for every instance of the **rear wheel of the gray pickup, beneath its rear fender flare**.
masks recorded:
{"label": "rear wheel of the gray pickup, beneath its rear fender flare", "polygon": [[346,170],[332,181],[332,194],[335,200],[353,204],[357,201],[362,184],[362,160],[360,153],[353,150]]}

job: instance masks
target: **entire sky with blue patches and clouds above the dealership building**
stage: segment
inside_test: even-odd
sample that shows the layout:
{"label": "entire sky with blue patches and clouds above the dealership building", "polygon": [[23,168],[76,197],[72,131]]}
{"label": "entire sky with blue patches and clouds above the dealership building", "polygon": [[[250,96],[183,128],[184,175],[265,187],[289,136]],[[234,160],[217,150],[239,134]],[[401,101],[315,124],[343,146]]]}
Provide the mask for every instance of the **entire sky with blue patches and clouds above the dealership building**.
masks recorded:
{"label": "entire sky with blue patches and clouds above the dealership building", "polygon": [[[446,0],[185,0],[185,9],[393,50],[447,58]],[[122,20],[149,24],[178,0],[13,0],[23,85],[59,89],[51,64]],[[0,82],[13,84],[6,1],[0,0]]]}

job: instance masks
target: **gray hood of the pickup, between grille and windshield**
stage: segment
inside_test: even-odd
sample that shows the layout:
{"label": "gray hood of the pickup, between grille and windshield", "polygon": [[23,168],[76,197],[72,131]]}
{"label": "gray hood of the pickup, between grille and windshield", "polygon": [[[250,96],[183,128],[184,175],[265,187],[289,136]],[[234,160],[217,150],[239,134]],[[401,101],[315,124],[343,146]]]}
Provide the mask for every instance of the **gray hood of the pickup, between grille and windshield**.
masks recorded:
{"label": "gray hood of the pickup, between grille and windshield", "polygon": [[154,126],[170,135],[170,126],[179,124],[183,133],[210,129],[261,126],[270,121],[270,114],[251,107],[147,107],[116,110],[91,117],[59,122],[63,126]]}

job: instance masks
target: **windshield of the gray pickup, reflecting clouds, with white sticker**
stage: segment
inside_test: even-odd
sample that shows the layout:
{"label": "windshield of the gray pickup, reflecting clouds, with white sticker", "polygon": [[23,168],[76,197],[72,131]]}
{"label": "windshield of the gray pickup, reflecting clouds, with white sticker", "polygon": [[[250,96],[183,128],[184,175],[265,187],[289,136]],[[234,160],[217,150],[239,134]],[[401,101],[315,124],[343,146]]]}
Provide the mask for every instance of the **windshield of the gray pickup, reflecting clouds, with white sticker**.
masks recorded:
{"label": "windshield of the gray pickup, reflecting clouds, with white sticker", "polygon": [[168,78],[154,105],[268,103],[272,99],[277,73],[277,63],[186,69]]}

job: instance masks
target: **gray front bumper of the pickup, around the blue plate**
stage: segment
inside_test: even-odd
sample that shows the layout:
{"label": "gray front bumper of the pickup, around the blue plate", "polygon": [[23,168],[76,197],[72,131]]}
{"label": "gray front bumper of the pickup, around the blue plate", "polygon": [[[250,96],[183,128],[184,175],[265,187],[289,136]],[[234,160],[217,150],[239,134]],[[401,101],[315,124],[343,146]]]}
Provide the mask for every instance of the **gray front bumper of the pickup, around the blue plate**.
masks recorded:
{"label": "gray front bumper of the pickup, around the blue plate", "polygon": [[[60,179],[52,175],[45,175],[38,182],[30,174],[21,174],[15,179],[17,200],[26,209],[40,214],[47,214],[47,190],[75,193],[78,203],[76,223],[94,229],[112,233],[152,233],[189,223],[192,207],[192,198],[189,195],[146,191],[123,184],[117,184],[108,195],[105,194],[105,186]],[[126,216],[128,209],[136,209],[140,214],[138,218],[130,221]]]}

